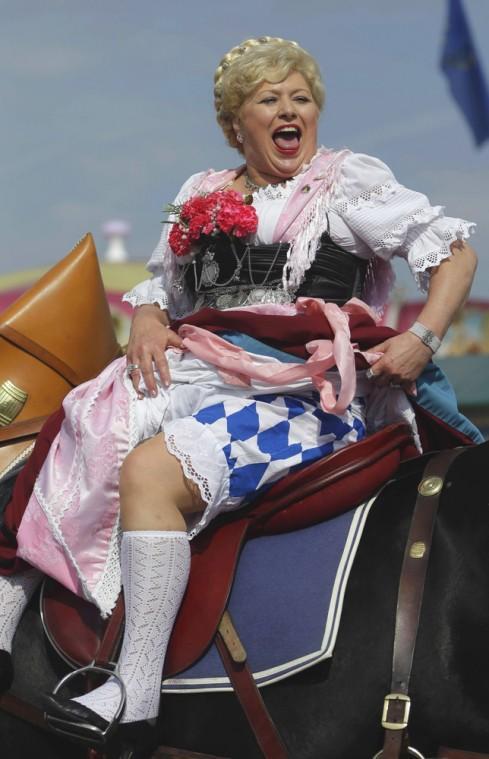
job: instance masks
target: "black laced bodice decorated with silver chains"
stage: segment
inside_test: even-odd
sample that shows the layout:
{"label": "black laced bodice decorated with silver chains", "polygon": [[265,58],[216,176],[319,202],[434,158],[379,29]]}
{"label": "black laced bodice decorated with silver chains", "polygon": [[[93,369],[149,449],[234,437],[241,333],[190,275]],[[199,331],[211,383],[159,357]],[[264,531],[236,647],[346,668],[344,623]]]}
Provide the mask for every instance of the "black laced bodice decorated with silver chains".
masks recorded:
{"label": "black laced bodice decorated with silver chains", "polygon": [[289,243],[249,245],[222,235],[204,246],[182,276],[195,293],[195,308],[231,308],[255,303],[291,303],[300,296],[342,305],[362,297],[367,261],[324,232],[316,257],[295,291],[283,287]]}

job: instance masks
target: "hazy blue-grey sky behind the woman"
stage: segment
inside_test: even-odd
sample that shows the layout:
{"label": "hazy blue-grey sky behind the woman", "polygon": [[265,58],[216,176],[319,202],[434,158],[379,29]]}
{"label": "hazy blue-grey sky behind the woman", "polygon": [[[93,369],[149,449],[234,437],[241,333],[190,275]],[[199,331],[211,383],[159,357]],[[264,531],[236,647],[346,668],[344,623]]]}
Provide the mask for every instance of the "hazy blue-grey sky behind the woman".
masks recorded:
{"label": "hazy blue-grey sky behind the woman", "polygon": [[[465,0],[489,80],[489,3]],[[146,260],[192,173],[235,166],[214,70],[247,37],[318,60],[321,142],[384,160],[448,215],[476,221],[489,282],[489,142],[476,148],[439,69],[446,0],[0,0],[0,275],[59,260],[86,232],[131,225]],[[398,284],[416,294],[403,262]]]}

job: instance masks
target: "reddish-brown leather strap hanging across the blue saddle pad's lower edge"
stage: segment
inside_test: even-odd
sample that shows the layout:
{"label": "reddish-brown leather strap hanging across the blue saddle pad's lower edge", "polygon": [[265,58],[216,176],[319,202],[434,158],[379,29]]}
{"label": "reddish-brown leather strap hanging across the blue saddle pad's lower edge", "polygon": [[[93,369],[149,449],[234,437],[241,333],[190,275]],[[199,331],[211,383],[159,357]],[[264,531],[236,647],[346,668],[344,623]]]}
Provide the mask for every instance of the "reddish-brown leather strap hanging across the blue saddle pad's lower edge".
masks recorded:
{"label": "reddish-brown leather strap hanging across the blue saddle pad's lower edge", "polygon": [[[231,626],[234,630],[229,612],[225,612],[225,614],[227,625]],[[234,692],[246,715],[253,735],[263,752],[263,756],[265,759],[288,759],[289,754],[287,749],[256,686],[253,675],[246,663],[246,653],[239,643],[239,639],[237,639],[238,647],[243,654],[234,657],[229,651],[229,643],[225,641],[220,630],[216,633],[214,640]]]}

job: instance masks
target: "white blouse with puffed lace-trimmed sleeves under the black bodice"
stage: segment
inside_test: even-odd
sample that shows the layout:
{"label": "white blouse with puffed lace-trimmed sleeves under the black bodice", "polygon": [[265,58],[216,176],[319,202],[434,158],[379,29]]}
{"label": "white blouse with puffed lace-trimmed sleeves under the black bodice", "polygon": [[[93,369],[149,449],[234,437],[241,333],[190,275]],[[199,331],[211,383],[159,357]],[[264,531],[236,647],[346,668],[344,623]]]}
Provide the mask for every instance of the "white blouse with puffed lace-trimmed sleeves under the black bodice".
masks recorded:
{"label": "white blouse with puffed lace-trimmed sleeves under the black bodice", "polygon": [[[202,176],[203,173],[195,174],[185,182],[175,204],[192,194]],[[284,186],[272,188],[272,192],[263,188],[254,194],[259,219],[254,242],[272,242],[278,217],[297,181],[298,177],[294,177]],[[385,163],[362,153],[350,153],[343,160],[324,211],[324,228],[329,222],[334,242],[364,259],[405,258],[419,288],[425,291],[430,269],[451,255],[452,242],[467,239],[476,226],[445,216],[443,206],[431,206],[425,195],[399,184]],[[172,293],[169,297],[165,289],[162,258],[167,252],[168,225],[164,226],[147,266],[152,279],[136,285],[123,299],[133,306],[156,303],[176,317],[191,311],[192,304],[188,294],[179,297]]]}

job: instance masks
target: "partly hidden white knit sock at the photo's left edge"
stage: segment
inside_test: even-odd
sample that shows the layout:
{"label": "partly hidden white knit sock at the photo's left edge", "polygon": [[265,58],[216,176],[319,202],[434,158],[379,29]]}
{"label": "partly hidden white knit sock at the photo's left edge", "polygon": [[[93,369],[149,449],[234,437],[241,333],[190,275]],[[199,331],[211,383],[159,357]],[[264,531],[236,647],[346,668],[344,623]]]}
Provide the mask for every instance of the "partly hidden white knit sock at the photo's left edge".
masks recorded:
{"label": "partly hidden white knit sock at the photo's left edge", "polygon": [[34,567],[16,575],[0,575],[0,649],[12,652],[12,641],[22,612],[41,578],[42,572]]}

